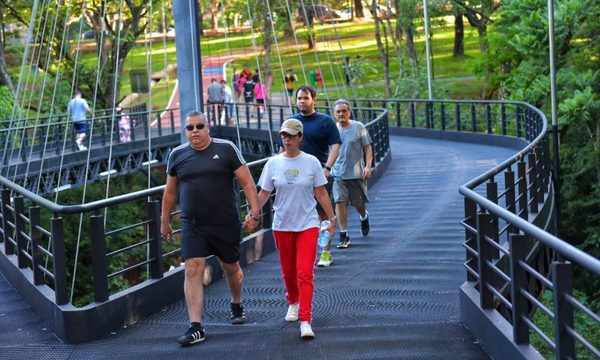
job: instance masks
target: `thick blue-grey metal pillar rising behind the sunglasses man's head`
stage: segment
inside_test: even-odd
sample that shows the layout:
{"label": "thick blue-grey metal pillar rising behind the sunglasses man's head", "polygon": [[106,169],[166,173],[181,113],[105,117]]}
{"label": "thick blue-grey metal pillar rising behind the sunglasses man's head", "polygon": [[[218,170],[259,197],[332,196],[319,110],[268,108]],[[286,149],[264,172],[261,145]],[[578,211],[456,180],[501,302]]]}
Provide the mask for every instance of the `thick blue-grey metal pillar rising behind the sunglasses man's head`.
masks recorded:
{"label": "thick blue-grey metal pillar rising behind the sunglasses man's head", "polygon": [[197,0],[173,0],[175,47],[177,48],[177,79],[181,141],[185,138],[185,116],[192,110],[204,111],[202,101],[202,67],[200,53],[201,23]]}

